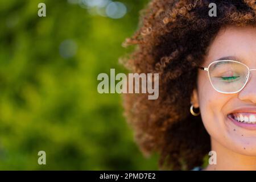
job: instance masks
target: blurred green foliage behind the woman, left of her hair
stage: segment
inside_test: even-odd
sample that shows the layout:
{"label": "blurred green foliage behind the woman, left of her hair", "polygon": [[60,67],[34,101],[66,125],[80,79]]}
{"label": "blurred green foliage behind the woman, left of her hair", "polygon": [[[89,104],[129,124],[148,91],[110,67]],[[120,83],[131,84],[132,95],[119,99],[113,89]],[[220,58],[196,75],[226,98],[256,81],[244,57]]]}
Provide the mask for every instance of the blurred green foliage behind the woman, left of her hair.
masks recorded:
{"label": "blurred green foliage behind the woman, left of her hair", "polygon": [[0,0],[0,169],[158,169],[135,144],[121,95],[97,92],[99,73],[126,72],[121,44],[147,2]]}

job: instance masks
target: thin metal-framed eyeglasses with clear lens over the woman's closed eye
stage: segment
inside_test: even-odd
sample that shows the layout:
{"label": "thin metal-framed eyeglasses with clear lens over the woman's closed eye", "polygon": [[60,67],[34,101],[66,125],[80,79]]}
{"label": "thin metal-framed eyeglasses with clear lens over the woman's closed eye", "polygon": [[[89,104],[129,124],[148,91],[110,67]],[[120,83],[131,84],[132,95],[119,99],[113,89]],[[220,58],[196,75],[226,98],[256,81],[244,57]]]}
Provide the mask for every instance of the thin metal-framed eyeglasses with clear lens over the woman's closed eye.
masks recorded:
{"label": "thin metal-framed eyeglasses with clear lens over the woman's closed eye", "polygon": [[217,60],[208,65],[207,68],[199,67],[208,72],[210,84],[220,93],[238,93],[247,84],[250,71],[247,65],[233,60]]}

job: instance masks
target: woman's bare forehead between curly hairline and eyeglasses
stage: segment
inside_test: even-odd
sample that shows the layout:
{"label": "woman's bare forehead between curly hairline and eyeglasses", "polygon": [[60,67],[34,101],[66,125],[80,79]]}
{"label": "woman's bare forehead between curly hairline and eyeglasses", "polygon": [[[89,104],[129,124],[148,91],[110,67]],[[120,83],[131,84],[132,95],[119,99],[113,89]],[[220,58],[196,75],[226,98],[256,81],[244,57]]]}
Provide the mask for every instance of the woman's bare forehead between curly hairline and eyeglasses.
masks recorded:
{"label": "woman's bare forehead between curly hairline and eyeglasses", "polygon": [[249,26],[222,28],[208,48],[204,65],[222,57],[233,57],[232,60],[256,65],[256,28]]}

